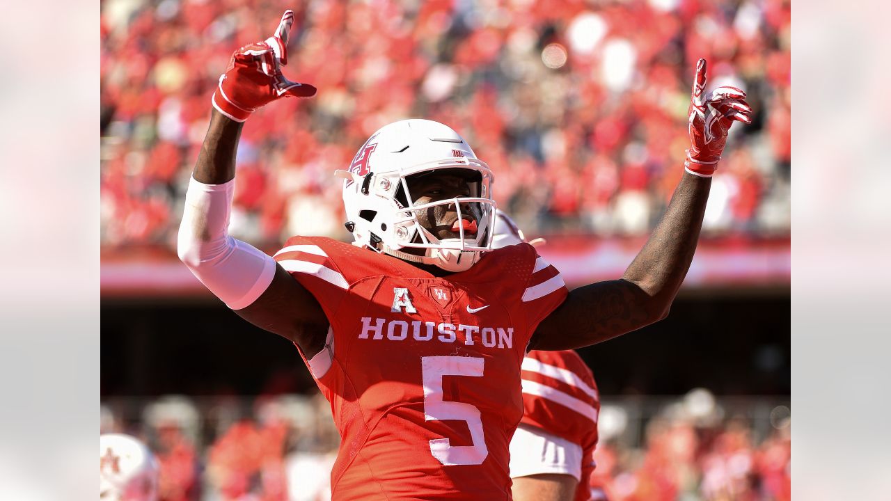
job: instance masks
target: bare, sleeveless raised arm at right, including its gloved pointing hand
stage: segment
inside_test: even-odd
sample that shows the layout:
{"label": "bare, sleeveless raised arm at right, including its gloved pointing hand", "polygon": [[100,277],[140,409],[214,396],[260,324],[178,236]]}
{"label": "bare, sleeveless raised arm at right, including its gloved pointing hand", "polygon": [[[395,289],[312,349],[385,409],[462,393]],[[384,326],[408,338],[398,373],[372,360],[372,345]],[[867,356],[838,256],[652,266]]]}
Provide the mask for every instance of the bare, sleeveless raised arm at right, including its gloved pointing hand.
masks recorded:
{"label": "bare, sleeveless raised arm at right, including its gloved pointing hand", "polygon": [[718,87],[704,98],[706,61],[697,64],[689,113],[691,149],[665,215],[619,280],[592,283],[567,299],[535,331],[530,349],[572,349],[607,341],[668,315],[699,242],[711,177],[733,121],[750,123],[746,94]]}

